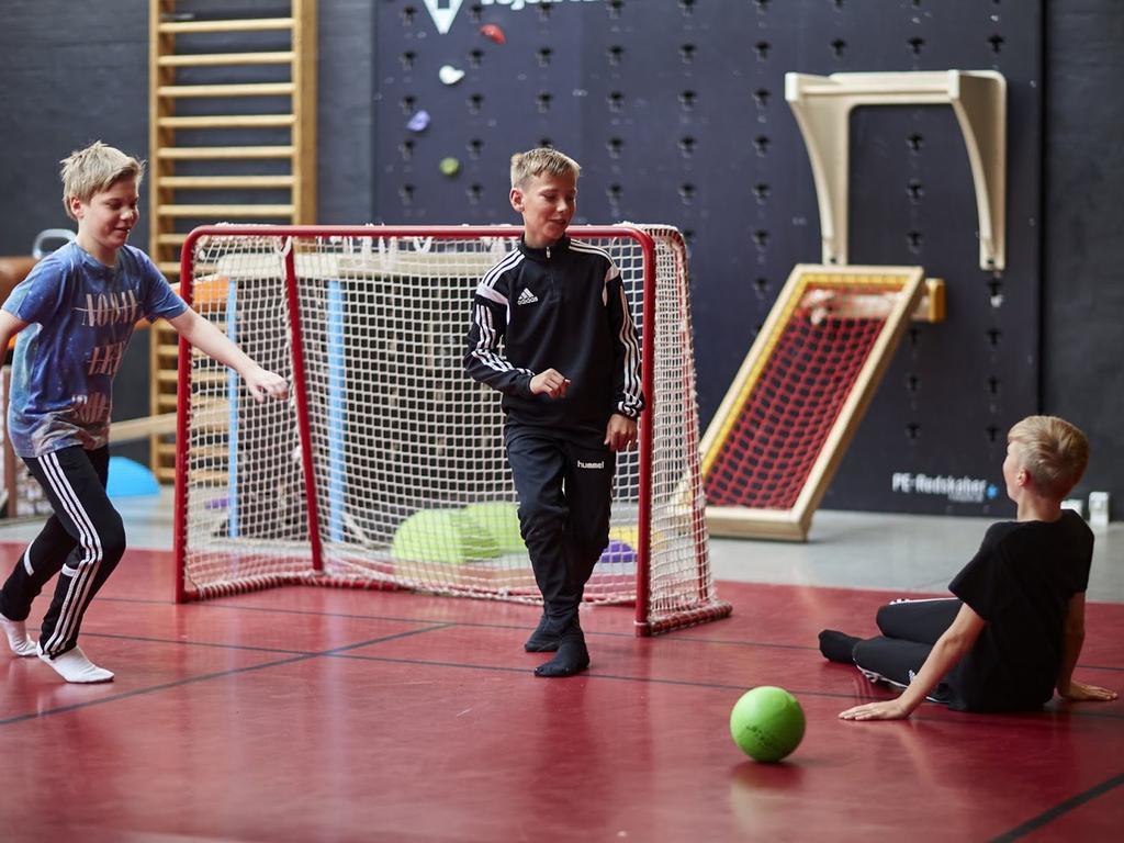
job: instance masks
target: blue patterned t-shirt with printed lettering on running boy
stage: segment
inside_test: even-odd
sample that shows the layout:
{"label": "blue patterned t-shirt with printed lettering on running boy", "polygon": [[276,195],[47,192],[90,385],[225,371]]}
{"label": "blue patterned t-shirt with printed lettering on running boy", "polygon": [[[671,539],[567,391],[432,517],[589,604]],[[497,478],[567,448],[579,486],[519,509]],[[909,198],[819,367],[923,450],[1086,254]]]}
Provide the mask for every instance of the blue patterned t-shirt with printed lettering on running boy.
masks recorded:
{"label": "blue patterned t-shirt with printed lettering on running boy", "polygon": [[106,266],[78,243],[44,257],[3,309],[29,325],[16,339],[8,436],[20,456],[109,442],[114,375],[139,318],[188,309],[133,246]]}

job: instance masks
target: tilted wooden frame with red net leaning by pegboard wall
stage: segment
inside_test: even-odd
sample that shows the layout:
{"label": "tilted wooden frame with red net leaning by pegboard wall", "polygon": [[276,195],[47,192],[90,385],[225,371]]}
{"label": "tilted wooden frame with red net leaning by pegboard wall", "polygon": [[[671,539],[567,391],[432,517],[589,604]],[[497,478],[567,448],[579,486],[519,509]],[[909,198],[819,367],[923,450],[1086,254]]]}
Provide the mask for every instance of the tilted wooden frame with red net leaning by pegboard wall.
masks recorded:
{"label": "tilted wooden frame with red net leaning by pegboard wall", "polygon": [[822,495],[809,483],[830,480],[919,280],[797,268],[708,433],[709,506],[791,510]]}

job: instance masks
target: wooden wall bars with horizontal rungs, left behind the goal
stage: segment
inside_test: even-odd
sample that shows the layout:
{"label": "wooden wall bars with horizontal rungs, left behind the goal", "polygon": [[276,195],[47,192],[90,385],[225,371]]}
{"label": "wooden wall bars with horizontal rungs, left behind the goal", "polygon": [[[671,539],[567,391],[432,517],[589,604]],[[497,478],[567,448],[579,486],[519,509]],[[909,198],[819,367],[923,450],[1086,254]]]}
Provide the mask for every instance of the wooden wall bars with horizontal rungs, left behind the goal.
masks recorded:
{"label": "wooden wall bars with horizontal rungs, left behind the goal", "polygon": [[[316,221],[316,0],[279,0],[259,19],[207,19],[198,6],[148,0],[148,251],[172,282],[197,224]],[[175,409],[178,344],[166,324],[149,336],[162,415]],[[174,436],[149,443],[154,473],[171,480]]]}

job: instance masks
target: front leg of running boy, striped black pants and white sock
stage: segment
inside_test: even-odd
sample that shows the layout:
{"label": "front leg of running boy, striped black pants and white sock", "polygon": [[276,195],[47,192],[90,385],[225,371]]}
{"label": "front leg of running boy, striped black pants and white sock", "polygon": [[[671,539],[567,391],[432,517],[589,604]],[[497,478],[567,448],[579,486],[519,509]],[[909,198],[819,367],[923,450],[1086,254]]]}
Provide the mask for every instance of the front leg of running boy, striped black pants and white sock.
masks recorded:
{"label": "front leg of running boy, striped black pants and white sock", "polygon": [[[75,540],[39,638],[40,658],[67,681],[112,678],[76,650],[85,610],[125,552],[125,528],[105,489],[108,460],[108,448],[85,452],[80,447],[26,460],[47,492],[55,516]],[[76,650],[74,655],[61,659],[72,650]]]}

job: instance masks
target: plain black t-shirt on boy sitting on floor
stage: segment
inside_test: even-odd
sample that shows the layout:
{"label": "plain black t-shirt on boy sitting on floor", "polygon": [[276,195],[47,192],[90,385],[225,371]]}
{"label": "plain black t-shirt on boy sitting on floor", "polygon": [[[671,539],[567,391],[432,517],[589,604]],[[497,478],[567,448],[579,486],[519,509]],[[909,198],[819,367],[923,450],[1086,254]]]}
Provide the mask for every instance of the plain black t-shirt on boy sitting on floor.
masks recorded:
{"label": "plain black t-shirt on boy sitting on floor", "polygon": [[1041,708],[1061,668],[1070,598],[1089,583],[1093,533],[1077,513],[1057,522],[1000,522],[949,589],[987,624],[949,674],[950,708]]}

